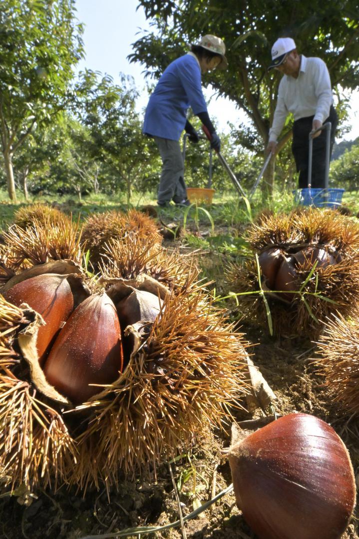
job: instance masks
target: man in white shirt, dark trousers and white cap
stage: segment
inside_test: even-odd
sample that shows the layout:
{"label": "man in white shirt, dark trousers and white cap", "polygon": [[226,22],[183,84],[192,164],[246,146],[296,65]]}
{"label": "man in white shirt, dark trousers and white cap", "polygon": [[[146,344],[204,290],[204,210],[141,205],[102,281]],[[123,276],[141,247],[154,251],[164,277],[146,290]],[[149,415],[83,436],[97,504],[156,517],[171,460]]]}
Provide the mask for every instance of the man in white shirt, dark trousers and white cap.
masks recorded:
{"label": "man in white shirt, dark trousers and white cap", "polygon": [[[277,139],[288,113],[294,116],[292,152],[299,172],[299,188],[308,186],[309,133],[327,121],[332,122],[330,154],[332,154],[337,115],[333,107],[332,86],[326,64],[320,58],[298,54],[294,40],[279,38],[272,47],[272,64],[282,77],[273,124],[269,132],[268,153],[276,153]],[[313,188],[325,187],[326,132],[313,135]]]}

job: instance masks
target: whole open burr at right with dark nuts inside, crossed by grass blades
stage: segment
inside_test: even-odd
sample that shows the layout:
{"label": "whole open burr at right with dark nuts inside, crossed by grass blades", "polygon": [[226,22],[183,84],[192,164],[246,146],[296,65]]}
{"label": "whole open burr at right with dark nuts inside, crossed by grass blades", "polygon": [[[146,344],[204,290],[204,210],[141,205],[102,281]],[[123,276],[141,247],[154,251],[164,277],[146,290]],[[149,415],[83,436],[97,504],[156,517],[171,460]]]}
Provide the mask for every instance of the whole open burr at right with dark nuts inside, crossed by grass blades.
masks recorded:
{"label": "whole open burr at right with dark nuts inside, crossed by grass blades", "polygon": [[227,277],[231,292],[246,293],[237,296],[242,317],[268,327],[268,306],[275,334],[318,336],[327,316],[346,316],[359,300],[359,226],[348,217],[311,208],[263,215],[248,238],[252,257]]}

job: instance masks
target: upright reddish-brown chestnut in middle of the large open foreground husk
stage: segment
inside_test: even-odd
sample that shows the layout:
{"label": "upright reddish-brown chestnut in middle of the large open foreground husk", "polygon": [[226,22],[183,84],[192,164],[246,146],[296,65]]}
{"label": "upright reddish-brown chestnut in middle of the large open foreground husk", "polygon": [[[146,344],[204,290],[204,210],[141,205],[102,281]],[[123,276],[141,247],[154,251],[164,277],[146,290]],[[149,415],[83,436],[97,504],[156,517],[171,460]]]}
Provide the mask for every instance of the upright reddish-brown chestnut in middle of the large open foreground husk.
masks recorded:
{"label": "upright reddish-brown chestnut in middle of the large open foreground husk", "polygon": [[44,366],[47,381],[72,403],[99,393],[123,368],[120,323],[106,293],[89,296],[67,320]]}

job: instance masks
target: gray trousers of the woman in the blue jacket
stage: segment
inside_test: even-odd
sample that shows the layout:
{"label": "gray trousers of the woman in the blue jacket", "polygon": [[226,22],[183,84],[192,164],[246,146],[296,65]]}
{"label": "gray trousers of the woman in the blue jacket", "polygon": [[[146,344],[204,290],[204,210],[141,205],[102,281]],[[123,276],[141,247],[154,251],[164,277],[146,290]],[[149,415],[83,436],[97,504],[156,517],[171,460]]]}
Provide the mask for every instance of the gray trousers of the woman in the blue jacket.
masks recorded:
{"label": "gray trousers of the woman in the blue jacket", "polygon": [[184,163],[179,142],[154,136],[162,159],[162,172],[158,186],[157,200],[160,204],[182,202],[187,199],[186,184],[184,183]]}

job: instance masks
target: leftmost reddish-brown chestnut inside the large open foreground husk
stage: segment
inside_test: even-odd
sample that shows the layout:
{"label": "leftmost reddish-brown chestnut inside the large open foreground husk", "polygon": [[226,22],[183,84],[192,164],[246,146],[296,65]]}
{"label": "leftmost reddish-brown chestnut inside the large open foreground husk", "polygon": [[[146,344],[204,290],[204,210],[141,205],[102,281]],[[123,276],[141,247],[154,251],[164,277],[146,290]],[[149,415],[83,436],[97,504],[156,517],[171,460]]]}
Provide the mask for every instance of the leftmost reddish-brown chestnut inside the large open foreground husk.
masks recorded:
{"label": "leftmost reddish-brown chestnut inside the large open foreground husk", "polygon": [[4,298],[19,307],[27,303],[42,315],[45,326],[39,326],[36,348],[42,367],[54,336],[73,310],[73,296],[66,275],[46,273],[14,285]]}

